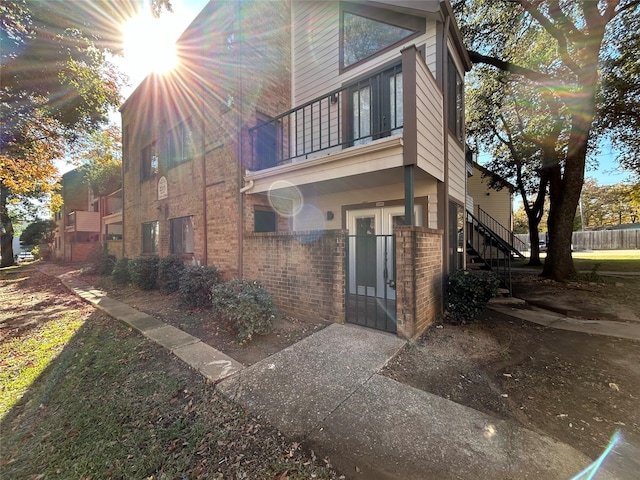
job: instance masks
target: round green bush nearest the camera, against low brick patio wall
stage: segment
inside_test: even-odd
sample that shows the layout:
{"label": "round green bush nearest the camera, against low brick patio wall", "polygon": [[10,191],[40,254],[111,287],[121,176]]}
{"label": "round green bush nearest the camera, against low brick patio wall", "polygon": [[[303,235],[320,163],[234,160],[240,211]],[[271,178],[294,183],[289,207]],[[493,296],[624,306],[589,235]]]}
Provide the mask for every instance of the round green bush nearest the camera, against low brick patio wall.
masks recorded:
{"label": "round green bush nearest the camera, against low brick patio wall", "polygon": [[278,314],[273,297],[257,281],[231,280],[211,289],[211,305],[220,317],[235,329],[238,339],[251,340],[273,328]]}

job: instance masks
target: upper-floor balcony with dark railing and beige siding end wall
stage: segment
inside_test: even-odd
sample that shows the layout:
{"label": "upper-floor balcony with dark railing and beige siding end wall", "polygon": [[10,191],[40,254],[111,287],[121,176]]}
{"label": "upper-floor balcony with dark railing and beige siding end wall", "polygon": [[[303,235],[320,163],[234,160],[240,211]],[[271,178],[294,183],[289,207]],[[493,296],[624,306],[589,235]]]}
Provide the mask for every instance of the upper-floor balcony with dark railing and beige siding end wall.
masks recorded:
{"label": "upper-floor balcony with dark railing and beige siding end wall", "polygon": [[303,184],[411,164],[444,178],[442,90],[415,47],[403,50],[395,66],[281,113],[249,133],[245,179],[256,182],[255,192],[266,191],[278,175]]}

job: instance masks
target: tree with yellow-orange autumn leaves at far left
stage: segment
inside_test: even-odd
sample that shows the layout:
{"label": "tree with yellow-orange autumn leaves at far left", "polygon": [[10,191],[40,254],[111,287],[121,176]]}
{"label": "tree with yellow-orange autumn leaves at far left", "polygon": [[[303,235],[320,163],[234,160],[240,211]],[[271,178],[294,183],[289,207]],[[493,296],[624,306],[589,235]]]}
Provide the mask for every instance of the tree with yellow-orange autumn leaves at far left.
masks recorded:
{"label": "tree with yellow-orange autumn leaves at far left", "polygon": [[[120,103],[124,78],[107,60],[121,51],[118,23],[139,2],[5,0],[0,86],[1,266],[13,264],[13,209],[60,198],[53,160],[99,128]],[[152,2],[155,13],[169,0]]]}

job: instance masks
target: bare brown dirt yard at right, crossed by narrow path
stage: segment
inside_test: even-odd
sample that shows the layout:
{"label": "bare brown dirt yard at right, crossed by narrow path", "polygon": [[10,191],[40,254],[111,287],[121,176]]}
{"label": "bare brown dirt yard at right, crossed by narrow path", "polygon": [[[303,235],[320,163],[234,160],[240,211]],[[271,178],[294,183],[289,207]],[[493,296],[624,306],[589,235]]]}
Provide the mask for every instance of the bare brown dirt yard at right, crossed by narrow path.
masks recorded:
{"label": "bare brown dirt yard at right, crossed by narrow path", "polygon": [[[540,298],[584,302],[592,318],[608,319],[599,312],[616,303],[624,311],[638,306],[637,278],[603,284],[559,284],[535,276],[517,281],[517,288]],[[515,420],[594,458],[617,430],[640,446],[640,342],[555,330],[491,310],[479,320],[434,326],[384,374]]]}

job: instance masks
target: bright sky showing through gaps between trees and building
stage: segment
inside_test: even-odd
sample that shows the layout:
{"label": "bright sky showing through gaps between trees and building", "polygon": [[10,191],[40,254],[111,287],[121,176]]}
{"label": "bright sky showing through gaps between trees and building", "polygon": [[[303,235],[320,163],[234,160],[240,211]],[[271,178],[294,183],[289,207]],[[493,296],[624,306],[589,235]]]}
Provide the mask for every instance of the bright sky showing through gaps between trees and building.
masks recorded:
{"label": "bright sky showing through gaps between trees and building", "polygon": [[[115,57],[113,62],[129,77],[129,85],[123,89],[126,99],[152,71],[163,71],[171,66],[173,45],[207,4],[208,0],[171,0],[173,12],[163,11],[159,18],[150,13],[149,0],[141,8],[138,17],[123,25],[125,49],[123,57]],[[120,125],[120,113],[114,111],[110,122]],[[610,145],[603,145],[598,156],[598,168],[588,170],[587,177],[595,178],[600,185],[623,182],[628,172],[616,170],[615,152]],[[483,157],[479,158],[484,163]],[[66,162],[57,162],[60,173],[73,168]],[[497,172],[499,173],[499,172]]]}

